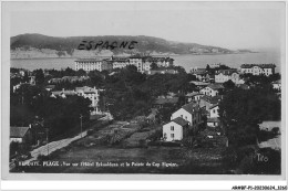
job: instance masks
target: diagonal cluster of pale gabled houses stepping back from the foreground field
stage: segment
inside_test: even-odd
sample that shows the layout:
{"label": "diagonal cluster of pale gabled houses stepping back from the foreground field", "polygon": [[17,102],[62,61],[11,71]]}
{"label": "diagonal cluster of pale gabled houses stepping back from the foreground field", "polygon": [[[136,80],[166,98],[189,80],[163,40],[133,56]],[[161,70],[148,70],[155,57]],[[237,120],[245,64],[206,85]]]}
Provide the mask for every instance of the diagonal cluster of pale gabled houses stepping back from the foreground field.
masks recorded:
{"label": "diagonal cluster of pale gabled houses stepping back from the foreground field", "polygon": [[[187,95],[188,97],[191,94]],[[163,125],[163,139],[165,141],[182,140],[188,135],[188,131],[195,130],[204,123],[206,116],[206,126],[216,128],[219,126],[219,103],[223,96],[206,96],[199,93],[194,94],[178,110],[172,114],[171,121]],[[191,97],[189,97],[191,98]]]}

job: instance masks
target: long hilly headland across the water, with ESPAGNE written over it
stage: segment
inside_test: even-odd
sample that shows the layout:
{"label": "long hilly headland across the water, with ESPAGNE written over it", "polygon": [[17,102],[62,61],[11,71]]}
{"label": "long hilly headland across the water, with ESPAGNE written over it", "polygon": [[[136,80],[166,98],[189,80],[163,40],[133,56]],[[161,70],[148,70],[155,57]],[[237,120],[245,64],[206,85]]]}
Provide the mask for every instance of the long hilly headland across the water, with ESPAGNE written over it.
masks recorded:
{"label": "long hilly headland across the water, with ESPAGNE written over it", "polygon": [[[136,41],[133,50],[130,49],[96,49],[78,50],[82,41],[93,42],[126,42]],[[161,38],[137,35],[104,35],[104,36],[70,36],[54,38],[42,34],[20,34],[10,39],[11,59],[38,57],[94,57],[110,55],[131,55],[135,53],[150,55],[177,54],[229,54],[232,50],[200,45],[197,43],[181,43],[166,41]]]}

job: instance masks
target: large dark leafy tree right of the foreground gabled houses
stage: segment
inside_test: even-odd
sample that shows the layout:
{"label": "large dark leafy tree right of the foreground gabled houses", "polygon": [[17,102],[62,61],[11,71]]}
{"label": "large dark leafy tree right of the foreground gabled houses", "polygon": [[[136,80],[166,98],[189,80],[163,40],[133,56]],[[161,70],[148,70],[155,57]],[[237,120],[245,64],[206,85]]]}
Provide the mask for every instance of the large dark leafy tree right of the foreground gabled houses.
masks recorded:
{"label": "large dark leafy tree right of the foreground gabled houses", "polygon": [[219,103],[220,120],[226,128],[229,145],[255,144],[263,120],[280,117],[280,100],[272,92],[261,88],[234,88]]}

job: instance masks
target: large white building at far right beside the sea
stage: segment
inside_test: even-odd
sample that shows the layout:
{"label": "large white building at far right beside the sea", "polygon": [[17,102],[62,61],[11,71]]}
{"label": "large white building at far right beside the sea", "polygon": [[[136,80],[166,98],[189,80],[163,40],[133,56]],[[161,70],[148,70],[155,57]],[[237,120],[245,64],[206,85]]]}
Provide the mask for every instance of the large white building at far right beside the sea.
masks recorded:
{"label": "large white building at far right beside the sea", "polygon": [[243,64],[240,66],[240,72],[243,74],[253,74],[253,75],[272,75],[275,74],[275,64]]}

